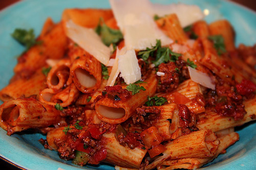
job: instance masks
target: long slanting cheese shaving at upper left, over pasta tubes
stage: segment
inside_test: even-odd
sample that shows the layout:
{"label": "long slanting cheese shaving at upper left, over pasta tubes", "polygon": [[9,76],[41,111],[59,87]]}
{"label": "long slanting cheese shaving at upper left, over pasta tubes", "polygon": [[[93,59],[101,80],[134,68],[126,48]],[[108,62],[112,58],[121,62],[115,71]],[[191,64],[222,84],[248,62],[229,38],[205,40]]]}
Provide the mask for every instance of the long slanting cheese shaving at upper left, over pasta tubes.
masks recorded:
{"label": "long slanting cheese shaving at upper left, over pasta tubes", "polygon": [[72,20],[66,23],[68,38],[94,56],[102,64],[107,65],[110,58],[110,48],[102,43],[101,38],[93,29],[76,25]]}

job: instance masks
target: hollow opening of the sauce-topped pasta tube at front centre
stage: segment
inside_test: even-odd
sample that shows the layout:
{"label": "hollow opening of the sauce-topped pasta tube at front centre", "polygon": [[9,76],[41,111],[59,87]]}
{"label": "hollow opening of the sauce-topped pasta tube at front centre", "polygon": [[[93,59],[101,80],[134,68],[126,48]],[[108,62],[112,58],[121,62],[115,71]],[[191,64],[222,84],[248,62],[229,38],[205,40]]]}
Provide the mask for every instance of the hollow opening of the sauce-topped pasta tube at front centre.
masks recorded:
{"label": "hollow opening of the sauce-topped pasta tube at front centre", "polygon": [[123,108],[114,108],[114,107],[99,105],[98,113],[109,119],[120,119],[124,117],[125,110]]}

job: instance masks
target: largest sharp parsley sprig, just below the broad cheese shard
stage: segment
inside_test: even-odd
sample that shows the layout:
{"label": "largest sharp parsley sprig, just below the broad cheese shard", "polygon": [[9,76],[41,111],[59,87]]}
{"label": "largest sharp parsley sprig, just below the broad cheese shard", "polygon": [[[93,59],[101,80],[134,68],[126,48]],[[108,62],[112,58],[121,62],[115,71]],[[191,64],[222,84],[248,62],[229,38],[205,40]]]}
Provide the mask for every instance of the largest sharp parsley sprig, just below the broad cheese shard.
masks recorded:
{"label": "largest sharp parsley sprig, just below the broad cheese shard", "polygon": [[156,57],[156,59],[152,61],[152,63],[155,65],[155,67],[157,67],[161,63],[167,63],[168,61],[177,61],[178,57],[180,57],[181,54],[173,52],[168,47],[161,47],[161,41],[156,40],[156,46],[152,47],[152,49],[147,48],[144,51],[140,51],[138,53],[138,56],[141,57],[144,61],[146,61],[149,56]]}

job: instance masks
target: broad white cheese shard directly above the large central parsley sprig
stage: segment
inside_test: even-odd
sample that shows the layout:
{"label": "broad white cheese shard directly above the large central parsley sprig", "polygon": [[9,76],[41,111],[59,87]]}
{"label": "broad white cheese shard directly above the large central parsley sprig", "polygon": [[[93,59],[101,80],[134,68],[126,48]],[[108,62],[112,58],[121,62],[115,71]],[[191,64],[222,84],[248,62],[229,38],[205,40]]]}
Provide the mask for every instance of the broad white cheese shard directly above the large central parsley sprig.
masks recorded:
{"label": "broad white cheese shard directly above the large central parsley sprig", "polygon": [[169,45],[173,41],[158,28],[153,18],[146,13],[138,16],[126,15],[124,21],[124,42],[128,50],[145,50],[156,45],[156,40],[161,40],[161,45]]}

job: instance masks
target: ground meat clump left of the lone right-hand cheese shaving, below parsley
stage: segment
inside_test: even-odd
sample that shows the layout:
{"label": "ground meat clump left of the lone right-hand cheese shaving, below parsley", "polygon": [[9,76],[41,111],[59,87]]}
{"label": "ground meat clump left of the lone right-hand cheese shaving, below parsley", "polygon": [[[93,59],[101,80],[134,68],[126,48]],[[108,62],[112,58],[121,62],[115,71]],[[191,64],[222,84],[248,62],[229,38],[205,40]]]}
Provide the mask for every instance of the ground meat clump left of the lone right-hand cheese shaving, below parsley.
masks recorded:
{"label": "ground meat clump left of the lone right-hand cheese shaving, below parsley", "polygon": [[182,81],[189,78],[186,62],[181,59],[176,62],[161,63],[158,68],[159,72],[164,73],[163,76],[157,76],[158,92],[173,91]]}

